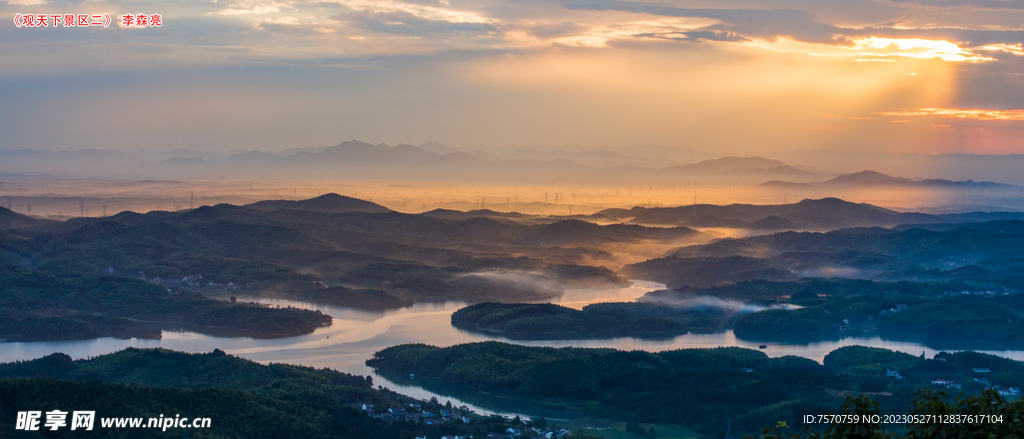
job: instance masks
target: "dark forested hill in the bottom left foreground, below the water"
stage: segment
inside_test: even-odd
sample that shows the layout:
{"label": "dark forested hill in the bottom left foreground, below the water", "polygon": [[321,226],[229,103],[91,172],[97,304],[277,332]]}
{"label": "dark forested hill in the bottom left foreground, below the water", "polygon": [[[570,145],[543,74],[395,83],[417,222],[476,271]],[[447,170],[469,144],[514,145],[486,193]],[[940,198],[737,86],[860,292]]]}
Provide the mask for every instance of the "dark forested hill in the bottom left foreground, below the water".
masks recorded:
{"label": "dark forested hill in the bottom left foreground, below the water", "polygon": [[[369,416],[356,402],[386,411],[413,399],[373,388],[369,378],[287,364],[262,365],[219,350],[187,354],[132,349],[88,360],[56,353],[0,364],[0,437],[181,437],[181,429],[103,429],[83,436],[13,430],[17,411],[95,410],[99,418],[209,418],[196,438],[410,439],[445,434],[484,437],[504,431],[504,420],[459,421],[428,426],[387,423]],[[422,402],[422,401],[421,401]],[[430,403],[423,402],[427,407]],[[436,404],[433,404],[436,405]],[[433,408],[432,408],[433,409]],[[436,413],[438,410],[434,409]],[[521,426],[520,426],[521,427]]]}

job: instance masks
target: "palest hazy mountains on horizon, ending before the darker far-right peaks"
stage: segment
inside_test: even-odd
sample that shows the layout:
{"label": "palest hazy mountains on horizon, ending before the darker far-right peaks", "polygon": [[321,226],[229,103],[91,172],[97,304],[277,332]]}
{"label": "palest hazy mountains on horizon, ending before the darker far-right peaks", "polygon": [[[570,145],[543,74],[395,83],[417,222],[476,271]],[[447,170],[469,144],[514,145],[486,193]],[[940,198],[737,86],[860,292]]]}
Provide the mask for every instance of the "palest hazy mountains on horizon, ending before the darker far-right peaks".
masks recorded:
{"label": "palest hazy mountains on horizon, ending before the darker far-right peaks", "polygon": [[[665,149],[638,146],[647,152]],[[670,166],[678,159],[630,156],[623,150],[542,150],[523,148],[493,153],[458,150],[437,142],[421,146],[371,144],[351,140],[334,146],[290,148],[278,153],[245,151],[211,157],[180,150],[181,157],[153,162],[160,153],[119,151],[38,151],[0,149],[0,172],[103,176],[108,178],[187,179],[401,179],[456,181],[678,183],[687,178],[813,175],[785,163],[759,157],[726,157]],[[683,162],[685,163],[685,162]],[[754,181],[746,181],[753,183]]]}

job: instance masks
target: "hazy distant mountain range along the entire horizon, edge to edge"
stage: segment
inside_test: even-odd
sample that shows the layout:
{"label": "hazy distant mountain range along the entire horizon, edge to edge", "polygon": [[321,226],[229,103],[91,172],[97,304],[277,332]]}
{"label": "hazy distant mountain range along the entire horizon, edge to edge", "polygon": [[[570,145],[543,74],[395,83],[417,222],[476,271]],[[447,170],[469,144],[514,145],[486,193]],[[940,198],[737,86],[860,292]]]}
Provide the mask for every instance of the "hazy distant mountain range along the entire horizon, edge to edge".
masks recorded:
{"label": "hazy distant mountain range along the entire horizon, edge to edge", "polygon": [[[197,151],[185,148],[133,153],[112,149],[0,149],[0,174],[165,180],[401,179],[627,185],[680,184],[699,179],[702,182],[762,183],[763,187],[788,188],[1012,187],[971,179],[908,179],[876,171],[844,174],[831,180],[813,182],[815,175],[821,174],[818,169],[756,156],[710,158],[713,153],[655,145],[595,149],[579,146],[473,149],[455,148],[439,142],[428,142],[420,146],[391,146],[358,140],[331,146],[288,148],[276,152]],[[884,161],[888,156],[871,157]],[[973,175],[992,175],[991,178],[997,178],[1002,174],[984,173],[985,167],[1006,171],[1014,169],[1024,160],[1024,156],[945,155],[941,158],[945,162],[939,161],[938,156],[929,160],[938,161],[936,163],[948,162],[949,164],[941,167],[948,172],[931,169],[925,174],[964,174],[963,169],[952,165],[953,162],[963,161],[974,164]],[[862,162],[863,160],[853,161],[850,166],[858,166],[856,164]],[[887,164],[879,163],[879,166]],[[1014,178],[1002,176],[1005,181],[1016,181]],[[764,182],[768,179],[771,180]]]}

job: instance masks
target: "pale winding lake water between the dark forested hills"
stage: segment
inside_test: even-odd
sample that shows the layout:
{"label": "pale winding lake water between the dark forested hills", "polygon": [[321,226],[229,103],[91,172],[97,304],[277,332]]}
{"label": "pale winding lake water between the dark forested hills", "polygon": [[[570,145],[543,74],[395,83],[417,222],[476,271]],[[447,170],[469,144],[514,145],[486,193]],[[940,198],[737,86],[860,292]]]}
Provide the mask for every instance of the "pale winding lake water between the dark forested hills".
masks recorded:
{"label": "pale winding lake water between the dark forested hills", "polygon": [[[588,304],[597,302],[633,301],[647,292],[663,289],[665,289],[665,286],[662,283],[634,280],[631,287],[623,289],[566,290],[561,298],[552,302],[580,309]],[[368,358],[373,356],[374,352],[404,343],[451,346],[485,340],[504,340],[453,327],[451,320],[452,313],[466,306],[463,302],[420,303],[409,308],[372,312],[332,305],[284,300],[252,298],[240,298],[240,300],[318,309],[333,316],[334,323],[331,326],[316,330],[309,335],[275,340],[218,338],[191,332],[165,331],[162,340],[118,340],[104,338],[74,342],[0,343],[0,362],[39,358],[54,352],[63,352],[73,358],[87,358],[119,351],[129,346],[137,348],[162,347],[185,352],[209,352],[213,349],[221,349],[232,355],[262,363],[286,362],[314,367],[331,367],[349,374],[371,376],[375,385],[382,385],[416,398],[428,399],[431,396],[436,396],[441,402],[451,400],[453,404],[465,404],[478,412],[498,412],[509,415],[521,414],[474,406],[457,398],[436,395],[417,386],[399,385],[374,374],[364,363]],[[817,361],[821,361],[828,352],[849,345],[887,348],[914,355],[925,352],[926,355],[932,356],[938,352],[938,350],[924,344],[887,340],[880,337],[847,337],[809,343],[779,343],[737,339],[732,334],[732,331],[714,334],[690,333],[664,340],[624,337],[602,340],[508,342],[526,346],[600,347],[652,352],[719,346],[739,346],[758,349],[759,344],[765,343],[768,347],[763,349],[763,351],[769,356],[799,355]],[[945,350],[949,351],[949,349]],[[975,350],[1024,360],[1024,350]]]}

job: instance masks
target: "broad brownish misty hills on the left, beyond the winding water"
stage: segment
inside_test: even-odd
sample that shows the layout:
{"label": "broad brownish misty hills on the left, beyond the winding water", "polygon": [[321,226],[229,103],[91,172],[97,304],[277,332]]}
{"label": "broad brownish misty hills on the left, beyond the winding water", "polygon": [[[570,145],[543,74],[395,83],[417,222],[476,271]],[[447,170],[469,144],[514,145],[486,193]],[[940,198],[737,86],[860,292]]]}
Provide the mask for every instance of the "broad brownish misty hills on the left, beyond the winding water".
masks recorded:
{"label": "broad brownish misty hills on the left, beyond the winding water", "polygon": [[687,227],[445,219],[374,206],[328,194],[17,228],[4,223],[0,266],[198,290],[230,284],[247,296],[393,308],[426,298],[550,299],[561,294],[562,283],[622,284],[626,280],[606,267],[623,264],[623,248],[636,253],[649,244],[710,239]]}

